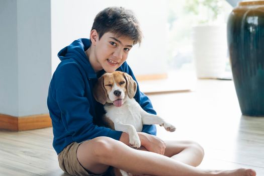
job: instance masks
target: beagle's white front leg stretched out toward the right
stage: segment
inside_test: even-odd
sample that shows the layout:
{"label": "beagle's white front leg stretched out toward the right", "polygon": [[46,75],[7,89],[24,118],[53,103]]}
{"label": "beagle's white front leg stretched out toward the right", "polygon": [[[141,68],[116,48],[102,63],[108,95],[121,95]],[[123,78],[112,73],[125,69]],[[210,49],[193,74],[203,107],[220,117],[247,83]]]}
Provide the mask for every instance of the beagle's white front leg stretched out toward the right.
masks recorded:
{"label": "beagle's white front leg stretched out toward the right", "polygon": [[149,114],[143,109],[141,112],[141,117],[142,117],[142,122],[144,125],[157,124],[157,125],[163,126],[169,132],[173,132],[176,129],[173,125],[165,122],[161,117],[154,115],[154,114]]}

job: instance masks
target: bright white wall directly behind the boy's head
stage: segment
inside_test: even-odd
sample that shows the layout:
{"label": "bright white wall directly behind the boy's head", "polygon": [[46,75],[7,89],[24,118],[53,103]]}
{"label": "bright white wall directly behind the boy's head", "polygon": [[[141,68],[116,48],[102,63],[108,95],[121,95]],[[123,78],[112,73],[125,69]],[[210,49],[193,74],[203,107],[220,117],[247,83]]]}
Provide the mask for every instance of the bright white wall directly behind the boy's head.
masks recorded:
{"label": "bright white wall directly behind the boy's head", "polygon": [[141,24],[143,42],[134,46],[128,57],[134,73],[166,72],[166,1],[51,0],[52,72],[60,62],[59,50],[75,39],[89,38],[95,16],[110,6],[133,10]]}

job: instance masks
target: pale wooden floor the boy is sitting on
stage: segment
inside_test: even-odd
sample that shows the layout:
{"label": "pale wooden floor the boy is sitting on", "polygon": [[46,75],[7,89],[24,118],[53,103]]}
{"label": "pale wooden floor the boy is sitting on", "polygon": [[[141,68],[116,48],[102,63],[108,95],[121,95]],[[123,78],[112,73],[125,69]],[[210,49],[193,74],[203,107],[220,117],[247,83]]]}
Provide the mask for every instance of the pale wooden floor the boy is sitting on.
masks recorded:
{"label": "pale wooden floor the boy is sitting on", "polygon": [[[157,126],[157,135],[199,142],[205,149],[200,168],[247,167],[264,175],[264,118],[241,115],[232,81],[199,80],[194,88],[149,96],[157,113],[177,127],[169,133]],[[0,175],[67,175],[52,148],[52,128],[0,131]]]}

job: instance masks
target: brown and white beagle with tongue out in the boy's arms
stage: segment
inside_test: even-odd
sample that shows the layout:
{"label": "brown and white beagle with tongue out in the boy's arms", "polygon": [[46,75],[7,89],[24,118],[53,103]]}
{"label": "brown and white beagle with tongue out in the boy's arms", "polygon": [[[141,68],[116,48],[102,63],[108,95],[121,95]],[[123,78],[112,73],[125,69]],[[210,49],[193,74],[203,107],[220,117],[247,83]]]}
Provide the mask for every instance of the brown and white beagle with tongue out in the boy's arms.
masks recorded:
{"label": "brown and white beagle with tongue out in the boy's arms", "polygon": [[[99,103],[104,105],[106,114],[100,119],[101,125],[113,130],[126,132],[129,144],[134,148],[141,146],[137,132],[142,131],[143,125],[160,125],[167,131],[175,131],[175,127],[157,115],[145,112],[133,98],[136,94],[137,83],[127,73],[114,71],[105,73],[95,84],[93,94]],[[113,175],[128,176],[121,169],[111,170]]]}

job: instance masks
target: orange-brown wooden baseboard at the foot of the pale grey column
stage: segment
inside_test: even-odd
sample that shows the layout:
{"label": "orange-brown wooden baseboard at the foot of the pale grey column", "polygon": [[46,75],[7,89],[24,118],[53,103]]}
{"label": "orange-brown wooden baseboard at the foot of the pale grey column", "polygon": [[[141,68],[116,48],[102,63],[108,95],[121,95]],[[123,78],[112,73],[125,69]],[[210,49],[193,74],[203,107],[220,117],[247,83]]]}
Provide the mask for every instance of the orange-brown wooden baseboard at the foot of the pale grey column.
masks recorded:
{"label": "orange-brown wooden baseboard at the foot of the pale grey column", "polygon": [[40,114],[33,116],[14,117],[0,114],[0,129],[11,131],[24,131],[39,128],[51,127],[49,114]]}

